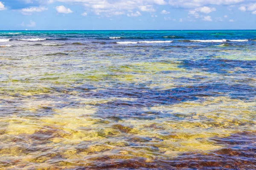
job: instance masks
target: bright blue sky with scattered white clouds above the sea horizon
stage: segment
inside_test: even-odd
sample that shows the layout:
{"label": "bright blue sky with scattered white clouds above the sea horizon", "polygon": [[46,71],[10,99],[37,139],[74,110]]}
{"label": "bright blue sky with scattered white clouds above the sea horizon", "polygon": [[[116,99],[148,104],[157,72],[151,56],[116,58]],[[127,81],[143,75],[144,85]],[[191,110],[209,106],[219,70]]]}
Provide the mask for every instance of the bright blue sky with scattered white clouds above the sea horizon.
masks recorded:
{"label": "bright blue sky with scattered white clouds above the sea horizon", "polygon": [[0,30],[256,29],[256,0],[0,0]]}

